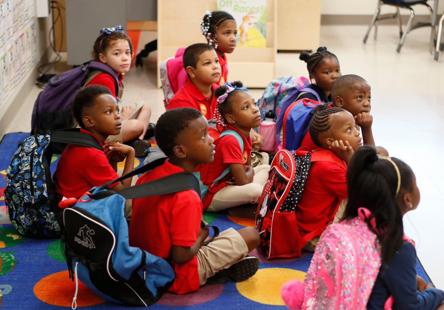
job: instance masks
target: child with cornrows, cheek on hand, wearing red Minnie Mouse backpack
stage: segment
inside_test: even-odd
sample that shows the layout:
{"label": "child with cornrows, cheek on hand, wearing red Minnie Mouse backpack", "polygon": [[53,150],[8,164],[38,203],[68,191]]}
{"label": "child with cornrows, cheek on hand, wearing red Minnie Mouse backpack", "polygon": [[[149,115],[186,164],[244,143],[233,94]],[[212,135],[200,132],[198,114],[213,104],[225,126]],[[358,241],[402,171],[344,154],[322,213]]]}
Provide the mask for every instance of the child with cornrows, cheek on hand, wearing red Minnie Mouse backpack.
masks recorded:
{"label": "child with cornrows, cheek on hand, wearing red Minnie Mouse backpack", "polygon": [[323,228],[342,211],[341,201],[347,198],[347,165],[362,145],[362,139],[352,114],[338,107],[317,106],[309,133],[319,149],[312,152],[296,218],[301,237],[318,231],[304,247],[306,251],[314,251]]}

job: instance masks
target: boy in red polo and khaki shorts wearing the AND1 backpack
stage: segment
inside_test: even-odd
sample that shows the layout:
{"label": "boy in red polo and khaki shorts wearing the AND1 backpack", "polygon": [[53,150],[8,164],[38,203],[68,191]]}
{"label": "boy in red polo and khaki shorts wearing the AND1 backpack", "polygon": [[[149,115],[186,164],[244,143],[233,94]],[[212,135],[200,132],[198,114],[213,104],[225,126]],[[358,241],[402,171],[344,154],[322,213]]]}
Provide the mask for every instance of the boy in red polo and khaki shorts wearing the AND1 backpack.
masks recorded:
{"label": "boy in red polo and khaki shorts wearing the AND1 backpack", "polygon": [[[155,128],[156,141],[168,156],[163,165],[144,173],[138,184],[180,171],[192,173],[199,164],[213,160],[213,138],[208,123],[192,108],[166,111]],[[129,242],[151,254],[169,258],[175,278],[170,292],[185,294],[205,283],[243,281],[256,273],[259,260],[246,256],[259,244],[252,227],[229,228],[207,245],[203,229],[202,201],[194,190],[133,200]]]}

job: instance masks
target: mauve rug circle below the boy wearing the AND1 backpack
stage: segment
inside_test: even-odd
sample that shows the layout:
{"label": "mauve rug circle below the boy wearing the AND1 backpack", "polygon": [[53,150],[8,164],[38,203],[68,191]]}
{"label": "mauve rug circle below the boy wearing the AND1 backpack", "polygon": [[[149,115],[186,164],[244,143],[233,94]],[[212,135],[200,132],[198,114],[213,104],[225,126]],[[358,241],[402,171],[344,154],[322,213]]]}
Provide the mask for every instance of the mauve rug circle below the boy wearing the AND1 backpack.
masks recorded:
{"label": "mauve rug circle below the boy wearing the AND1 backpack", "polygon": [[177,295],[165,293],[157,303],[165,306],[193,306],[218,298],[223,291],[223,284],[204,285],[193,293]]}

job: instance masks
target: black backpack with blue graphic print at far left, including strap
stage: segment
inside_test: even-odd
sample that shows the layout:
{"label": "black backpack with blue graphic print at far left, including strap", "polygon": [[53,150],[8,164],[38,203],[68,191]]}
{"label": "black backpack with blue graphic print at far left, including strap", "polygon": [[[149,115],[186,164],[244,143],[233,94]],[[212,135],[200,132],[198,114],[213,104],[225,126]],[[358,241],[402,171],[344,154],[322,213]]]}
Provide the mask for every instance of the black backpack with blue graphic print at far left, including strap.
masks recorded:
{"label": "black backpack with blue graphic print at far left, including strap", "polygon": [[37,130],[20,141],[6,173],[5,203],[11,222],[20,234],[33,238],[57,238],[62,218],[49,165],[52,142],[74,143],[102,149],[89,133]]}

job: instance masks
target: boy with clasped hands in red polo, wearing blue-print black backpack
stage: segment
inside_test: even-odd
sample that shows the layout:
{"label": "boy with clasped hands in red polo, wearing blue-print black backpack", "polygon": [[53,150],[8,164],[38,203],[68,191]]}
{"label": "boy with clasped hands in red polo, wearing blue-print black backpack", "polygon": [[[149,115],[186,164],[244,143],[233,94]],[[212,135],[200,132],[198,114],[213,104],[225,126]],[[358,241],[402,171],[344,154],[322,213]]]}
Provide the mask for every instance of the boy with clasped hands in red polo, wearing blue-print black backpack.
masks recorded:
{"label": "boy with clasped hands in red polo, wearing blue-print black backpack", "polygon": [[[123,174],[134,169],[134,149],[131,146],[105,140],[109,135],[119,134],[122,121],[119,106],[110,90],[101,85],[92,85],[79,90],[72,102],[72,113],[80,124],[80,132],[89,133],[102,145],[103,151],[82,145],[68,144],[63,150],[53,176],[59,200],[79,198],[85,192],[119,177],[117,162],[125,161]],[[112,186],[113,190],[127,188],[131,178]],[[131,206],[130,206],[131,207]],[[127,208],[126,214],[131,213]]]}

